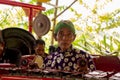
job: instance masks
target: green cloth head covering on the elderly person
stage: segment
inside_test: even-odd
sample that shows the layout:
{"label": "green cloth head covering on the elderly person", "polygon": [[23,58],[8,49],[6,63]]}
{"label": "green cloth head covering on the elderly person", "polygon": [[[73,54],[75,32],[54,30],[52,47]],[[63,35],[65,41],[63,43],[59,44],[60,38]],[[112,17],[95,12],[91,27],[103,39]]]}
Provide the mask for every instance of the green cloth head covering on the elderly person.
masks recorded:
{"label": "green cloth head covering on the elderly person", "polygon": [[74,25],[71,21],[69,20],[61,20],[60,22],[57,23],[55,29],[54,29],[54,34],[57,34],[58,31],[63,28],[63,27],[67,27],[69,28],[74,34],[75,34],[75,28]]}

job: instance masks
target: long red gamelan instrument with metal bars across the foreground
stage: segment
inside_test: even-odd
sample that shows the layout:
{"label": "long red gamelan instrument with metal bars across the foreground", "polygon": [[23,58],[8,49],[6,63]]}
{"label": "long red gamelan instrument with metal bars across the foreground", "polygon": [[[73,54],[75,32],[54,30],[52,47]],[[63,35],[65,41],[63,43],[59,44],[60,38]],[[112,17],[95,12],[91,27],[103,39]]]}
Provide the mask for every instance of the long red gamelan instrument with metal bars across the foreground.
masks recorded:
{"label": "long red gamelan instrument with metal bars across the foreground", "polygon": [[[8,63],[0,64],[1,80],[107,80],[108,78],[104,77],[107,75],[106,72],[99,70],[83,74],[82,72],[68,72],[55,69],[29,69],[15,67]],[[111,76],[109,79],[119,80],[120,73]]]}

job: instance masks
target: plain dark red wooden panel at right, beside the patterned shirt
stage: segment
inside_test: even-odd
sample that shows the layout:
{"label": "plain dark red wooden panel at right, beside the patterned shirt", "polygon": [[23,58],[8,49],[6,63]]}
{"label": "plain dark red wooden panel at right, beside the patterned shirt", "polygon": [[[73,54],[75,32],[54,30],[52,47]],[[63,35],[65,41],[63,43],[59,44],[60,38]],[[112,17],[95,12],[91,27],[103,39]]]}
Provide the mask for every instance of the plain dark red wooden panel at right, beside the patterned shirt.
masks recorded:
{"label": "plain dark red wooden panel at right, beside the patterned shirt", "polygon": [[107,73],[107,76],[104,76],[105,78],[110,78],[114,74],[120,72],[120,59],[118,56],[93,56],[96,70],[104,71]]}

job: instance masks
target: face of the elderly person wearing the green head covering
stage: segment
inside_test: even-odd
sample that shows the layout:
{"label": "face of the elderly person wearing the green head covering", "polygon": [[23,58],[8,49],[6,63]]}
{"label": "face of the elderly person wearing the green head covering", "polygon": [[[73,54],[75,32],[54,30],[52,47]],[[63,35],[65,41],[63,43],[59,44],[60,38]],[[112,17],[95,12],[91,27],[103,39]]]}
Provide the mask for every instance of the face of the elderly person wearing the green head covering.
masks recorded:
{"label": "face of the elderly person wearing the green head covering", "polygon": [[76,35],[66,27],[61,28],[55,35],[55,40],[58,41],[58,45],[61,50],[66,50],[70,48],[71,43],[74,41]]}

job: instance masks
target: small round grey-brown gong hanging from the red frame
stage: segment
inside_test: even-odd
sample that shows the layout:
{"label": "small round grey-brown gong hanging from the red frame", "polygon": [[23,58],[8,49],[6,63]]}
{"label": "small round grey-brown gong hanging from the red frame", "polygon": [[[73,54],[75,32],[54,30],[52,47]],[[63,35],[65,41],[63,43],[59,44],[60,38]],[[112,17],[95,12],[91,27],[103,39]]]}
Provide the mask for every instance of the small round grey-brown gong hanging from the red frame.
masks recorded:
{"label": "small round grey-brown gong hanging from the red frame", "polygon": [[48,33],[50,30],[50,20],[44,14],[38,14],[33,21],[33,30],[38,37]]}

